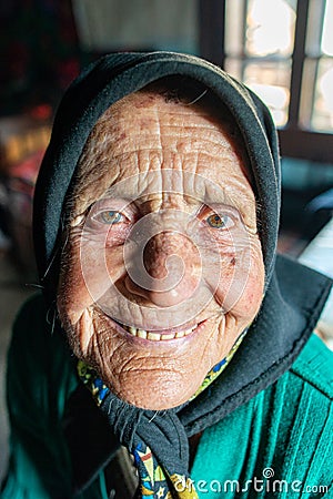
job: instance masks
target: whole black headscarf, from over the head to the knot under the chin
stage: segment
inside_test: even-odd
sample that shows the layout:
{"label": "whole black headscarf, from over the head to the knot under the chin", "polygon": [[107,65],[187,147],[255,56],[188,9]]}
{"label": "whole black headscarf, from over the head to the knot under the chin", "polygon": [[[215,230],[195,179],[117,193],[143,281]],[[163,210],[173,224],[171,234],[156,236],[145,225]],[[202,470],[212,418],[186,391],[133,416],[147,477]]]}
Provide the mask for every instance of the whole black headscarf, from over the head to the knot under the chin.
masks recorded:
{"label": "whole black headscarf, from over the head to the knot under the chin", "polygon": [[211,89],[238,124],[261,206],[259,230],[265,266],[261,312],[235,358],[209,390],[190,404],[154,417],[111,393],[101,406],[121,442],[131,449],[138,436],[145,442],[148,439],[169,472],[171,466],[186,475],[188,437],[248,401],[291,366],[316,324],[329,285],[312,271],[285,258],[275,261],[279,147],[271,115],[260,99],[220,68],[196,57],[171,52],[119,53],[90,65],[69,88],[41,165],[33,227],[39,275],[49,302],[57,294],[64,200],[92,128],[112,103],[169,75],[188,77]]}

